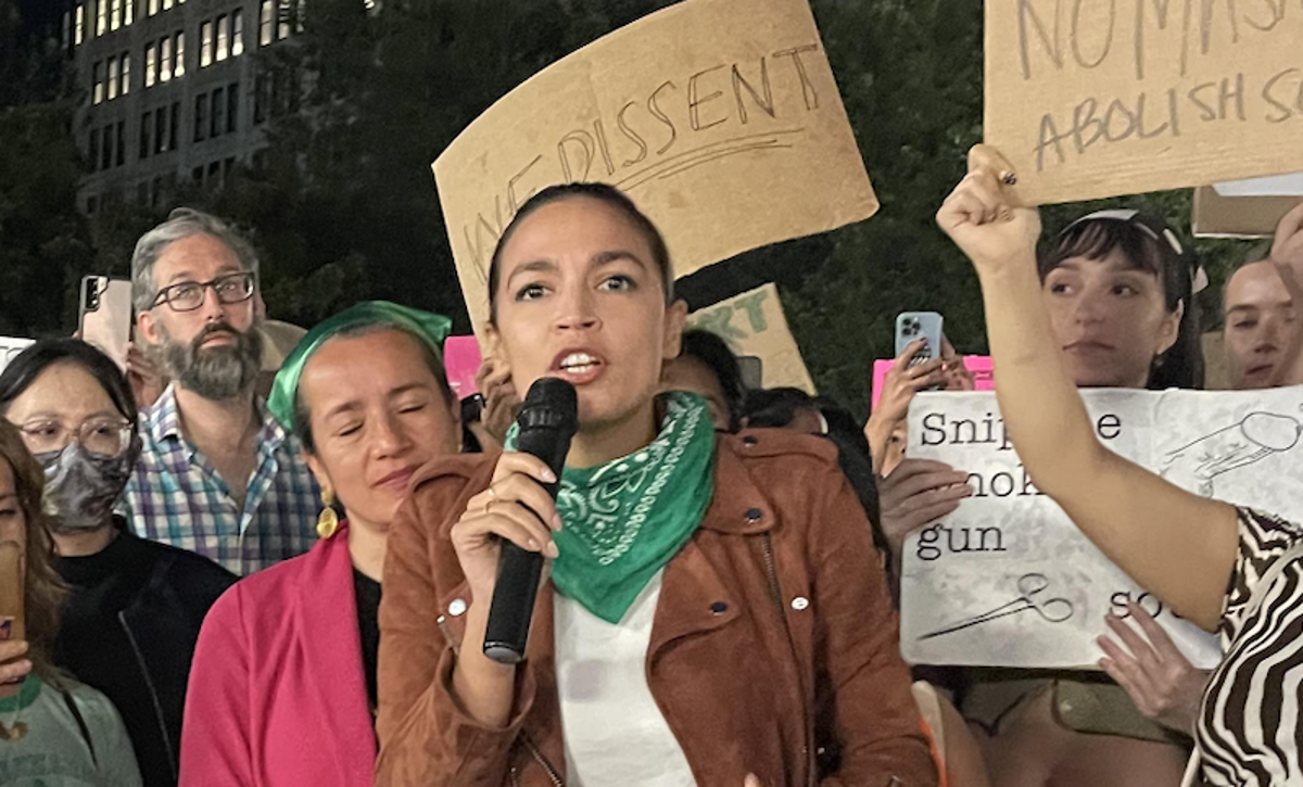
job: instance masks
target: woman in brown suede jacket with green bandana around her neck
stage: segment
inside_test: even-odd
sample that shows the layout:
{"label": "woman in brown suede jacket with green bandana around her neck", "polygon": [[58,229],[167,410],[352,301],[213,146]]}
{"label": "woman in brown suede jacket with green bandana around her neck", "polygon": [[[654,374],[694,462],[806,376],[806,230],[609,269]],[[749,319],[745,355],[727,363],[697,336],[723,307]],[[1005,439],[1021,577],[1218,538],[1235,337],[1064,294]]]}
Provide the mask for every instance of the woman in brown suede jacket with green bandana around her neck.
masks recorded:
{"label": "woman in brown suede jacket with green bandana around her neck", "polygon": [[[657,395],[687,308],[652,222],[610,186],[546,189],[489,291],[493,354],[517,391],[573,384],[579,429],[555,503],[526,453],[414,479],[384,569],[377,783],[936,784],[834,448],[717,436],[702,399]],[[503,539],[550,560],[519,665],[483,654]]]}

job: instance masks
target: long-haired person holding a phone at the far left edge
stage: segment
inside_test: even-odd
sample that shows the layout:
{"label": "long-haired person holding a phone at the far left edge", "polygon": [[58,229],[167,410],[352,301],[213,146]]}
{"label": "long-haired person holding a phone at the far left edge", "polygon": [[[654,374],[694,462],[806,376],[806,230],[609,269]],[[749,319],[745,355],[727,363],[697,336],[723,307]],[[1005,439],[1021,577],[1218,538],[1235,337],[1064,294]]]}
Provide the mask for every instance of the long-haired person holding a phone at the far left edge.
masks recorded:
{"label": "long-haired person holding a phone at the far left edge", "polygon": [[[0,599],[10,612],[0,616],[0,784],[138,787],[132,741],[113,705],[51,661],[64,588],[51,565],[44,485],[18,430],[0,418],[0,545],[18,558],[17,565],[3,562],[0,588],[18,585],[23,612],[14,620],[16,599]],[[20,576],[8,576],[14,569]]]}

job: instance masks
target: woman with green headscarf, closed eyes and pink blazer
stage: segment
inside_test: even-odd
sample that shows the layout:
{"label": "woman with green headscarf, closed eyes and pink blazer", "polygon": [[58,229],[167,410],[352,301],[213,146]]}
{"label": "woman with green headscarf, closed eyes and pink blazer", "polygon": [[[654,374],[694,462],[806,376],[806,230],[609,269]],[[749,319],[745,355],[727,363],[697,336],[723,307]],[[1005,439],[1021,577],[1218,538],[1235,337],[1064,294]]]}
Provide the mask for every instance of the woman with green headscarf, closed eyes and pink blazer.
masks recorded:
{"label": "woman with green headscarf, closed eyes and pink blazer", "polygon": [[[343,311],[276,375],[272,414],[322,486],[321,541],[237,582],[190,670],[181,784],[371,784],[380,572],[408,481],[459,451],[448,319],[387,302]],[[336,516],[336,508],[345,519]]]}

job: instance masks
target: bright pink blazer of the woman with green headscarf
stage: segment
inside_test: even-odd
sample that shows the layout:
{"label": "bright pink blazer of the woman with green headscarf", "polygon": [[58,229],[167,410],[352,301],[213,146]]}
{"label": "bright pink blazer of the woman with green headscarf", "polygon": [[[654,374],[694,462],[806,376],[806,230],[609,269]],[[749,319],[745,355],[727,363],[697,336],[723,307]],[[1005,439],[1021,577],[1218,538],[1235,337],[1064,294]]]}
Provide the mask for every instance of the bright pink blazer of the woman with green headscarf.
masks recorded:
{"label": "bright pink blazer of the woman with green headscarf", "polygon": [[236,582],[199,632],[181,727],[181,786],[370,787],[348,528]]}

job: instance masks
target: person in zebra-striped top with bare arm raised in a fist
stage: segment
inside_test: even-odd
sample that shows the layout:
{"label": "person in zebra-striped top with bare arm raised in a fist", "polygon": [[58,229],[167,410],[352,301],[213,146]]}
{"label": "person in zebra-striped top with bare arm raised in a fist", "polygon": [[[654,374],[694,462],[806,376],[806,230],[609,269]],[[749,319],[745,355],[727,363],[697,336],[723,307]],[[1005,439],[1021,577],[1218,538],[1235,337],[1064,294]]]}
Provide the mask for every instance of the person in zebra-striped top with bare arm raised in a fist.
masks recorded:
{"label": "person in zebra-striped top with bare arm raised in a fist", "polygon": [[[1196,723],[1203,779],[1253,787],[1296,782],[1303,529],[1186,493],[1096,440],[1036,294],[1040,218],[1002,185],[1014,179],[998,154],[976,149],[971,162],[937,222],[981,280],[997,394],[1019,457],[1105,555],[1177,614],[1220,629],[1225,658]],[[1272,251],[1287,280],[1303,272],[1296,229],[1298,222]]]}

